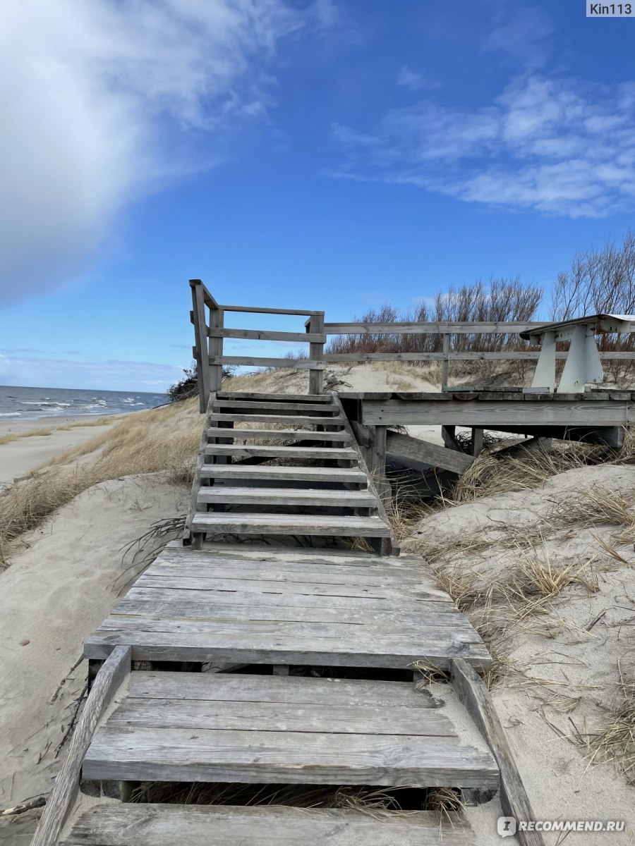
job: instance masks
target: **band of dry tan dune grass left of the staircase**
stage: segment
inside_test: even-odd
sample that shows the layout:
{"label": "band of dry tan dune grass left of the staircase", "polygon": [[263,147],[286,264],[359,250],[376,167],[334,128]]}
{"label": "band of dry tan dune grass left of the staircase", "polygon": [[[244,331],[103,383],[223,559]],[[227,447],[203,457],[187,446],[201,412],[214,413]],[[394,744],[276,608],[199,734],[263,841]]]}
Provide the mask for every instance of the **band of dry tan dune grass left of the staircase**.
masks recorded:
{"label": "band of dry tan dune grass left of the staircase", "polygon": [[167,471],[170,481],[189,483],[200,438],[195,400],[141,411],[15,482],[0,494],[0,566],[10,541],[99,482]]}

